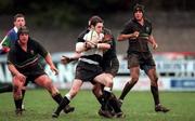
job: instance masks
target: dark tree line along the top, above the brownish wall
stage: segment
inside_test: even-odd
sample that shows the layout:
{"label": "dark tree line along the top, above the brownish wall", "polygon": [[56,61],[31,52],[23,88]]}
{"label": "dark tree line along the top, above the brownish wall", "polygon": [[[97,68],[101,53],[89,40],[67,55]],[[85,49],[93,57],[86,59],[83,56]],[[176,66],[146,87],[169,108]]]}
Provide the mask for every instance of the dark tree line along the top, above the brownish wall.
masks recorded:
{"label": "dark tree line along the top, above the brownish wall", "polygon": [[22,12],[36,16],[32,21],[38,25],[79,25],[84,15],[129,12],[136,3],[144,4],[147,11],[195,11],[194,0],[0,0],[0,14]]}

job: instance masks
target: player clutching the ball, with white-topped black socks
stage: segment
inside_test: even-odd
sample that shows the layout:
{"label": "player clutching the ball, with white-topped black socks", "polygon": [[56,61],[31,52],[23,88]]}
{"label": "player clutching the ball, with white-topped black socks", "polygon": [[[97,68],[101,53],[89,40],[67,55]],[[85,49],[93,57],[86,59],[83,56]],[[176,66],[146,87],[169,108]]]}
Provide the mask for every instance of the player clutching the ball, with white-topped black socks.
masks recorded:
{"label": "player clutching the ball, with white-topped black socks", "polygon": [[[103,21],[95,18],[90,23],[91,27],[89,32],[83,36],[83,39],[78,40],[76,44],[76,52],[81,53],[77,68],[76,78],[74,80],[70,91],[65,95],[63,102],[52,115],[53,118],[57,118],[64,106],[69,104],[70,99],[76,96],[80,86],[86,81],[95,81],[105,85],[103,89],[104,103],[102,106],[102,113],[104,117],[110,118],[110,113],[107,110],[108,98],[112,95],[113,81],[104,72],[100,64],[102,63],[103,50],[110,48],[107,43],[102,43],[104,35]],[[84,41],[83,41],[84,40]]]}

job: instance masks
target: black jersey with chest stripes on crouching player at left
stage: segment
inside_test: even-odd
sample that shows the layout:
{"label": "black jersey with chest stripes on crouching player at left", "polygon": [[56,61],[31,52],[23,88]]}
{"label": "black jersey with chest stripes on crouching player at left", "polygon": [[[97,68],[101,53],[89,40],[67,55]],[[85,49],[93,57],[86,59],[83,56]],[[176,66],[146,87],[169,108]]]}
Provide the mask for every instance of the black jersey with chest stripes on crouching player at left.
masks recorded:
{"label": "black jersey with chest stripes on crouching player at left", "polygon": [[29,38],[27,52],[21,48],[18,42],[15,42],[8,54],[8,64],[13,64],[22,73],[39,71],[43,69],[39,56],[46,57],[48,53],[39,42]]}

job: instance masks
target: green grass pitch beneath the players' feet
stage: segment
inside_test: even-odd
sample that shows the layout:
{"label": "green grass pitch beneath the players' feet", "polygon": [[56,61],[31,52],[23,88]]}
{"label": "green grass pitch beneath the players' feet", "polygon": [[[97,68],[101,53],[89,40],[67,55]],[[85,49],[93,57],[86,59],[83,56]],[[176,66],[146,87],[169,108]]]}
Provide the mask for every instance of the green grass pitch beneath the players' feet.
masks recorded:
{"label": "green grass pitch beneath the players' feet", "polygon": [[[67,91],[61,90],[62,95]],[[115,92],[118,96],[120,92]],[[123,119],[104,119],[99,117],[100,108],[91,91],[80,91],[73,99],[76,107],[73,113],[61,113],[52,119],[56,104],[46,90],[28,90],[25,95],[26,111],[22,117],[14,113],[12,93],[0,94],[0,121],[194,121],[195,92],[160,92],[161,104],[171,109],[168,113],[154,111],[151,92],[131,92],[126,97],[122,110]]]}

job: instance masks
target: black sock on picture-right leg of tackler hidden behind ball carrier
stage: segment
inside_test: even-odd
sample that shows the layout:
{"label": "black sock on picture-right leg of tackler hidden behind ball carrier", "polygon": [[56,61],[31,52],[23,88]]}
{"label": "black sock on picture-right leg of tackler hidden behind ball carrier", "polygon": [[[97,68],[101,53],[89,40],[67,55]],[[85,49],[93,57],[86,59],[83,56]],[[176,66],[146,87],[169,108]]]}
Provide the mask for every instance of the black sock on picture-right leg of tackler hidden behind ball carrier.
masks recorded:
{"label": "black sock on picture-right leg of tackler hidden behind ball carrier", "polygon": [[112,94],[108,105],[112,106],[112,108],[115,110],[115,112],[121,112],[121,109],[118,104],[118,99],[116,98],[116,96],[114,94]]}

